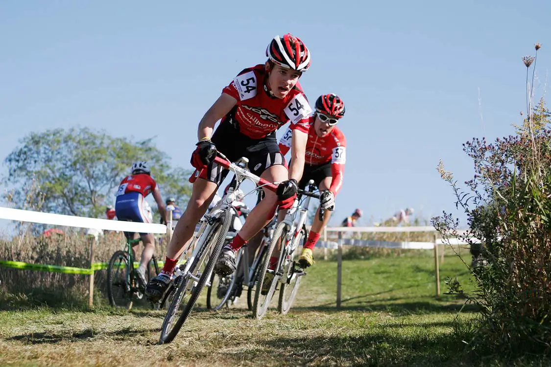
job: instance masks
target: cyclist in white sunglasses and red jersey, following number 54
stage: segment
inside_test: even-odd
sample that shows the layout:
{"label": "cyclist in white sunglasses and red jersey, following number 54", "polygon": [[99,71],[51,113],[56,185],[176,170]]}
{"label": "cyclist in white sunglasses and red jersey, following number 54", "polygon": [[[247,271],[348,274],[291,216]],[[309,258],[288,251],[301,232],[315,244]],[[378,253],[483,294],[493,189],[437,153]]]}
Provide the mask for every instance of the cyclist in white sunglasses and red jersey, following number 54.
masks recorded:
{"label": "cyclist in white sunglasses and red jersey, following number 54", "polygon": [[[335,94],[322,95],[316,100],[316,112],[310,118],[310,132],[306,143],[306,164],[299,183],[299,188],[306,187],[309,180],[314,180],[322,191],[320,207],[326,209],[323,221],[320,221],[318,207],[314,223],[302,248],[299,264],[307,267],[314,264],[312,250],[323,227],[329,222],[334,210],[335,196],[343,184],[344,163],[346,162],[346,139],[336,126],[344,116],[344,102]],[[289,130],[279,141],[279,149],[287,153],[291,146]],[[291,161],[292,162],[292,161]]]}

